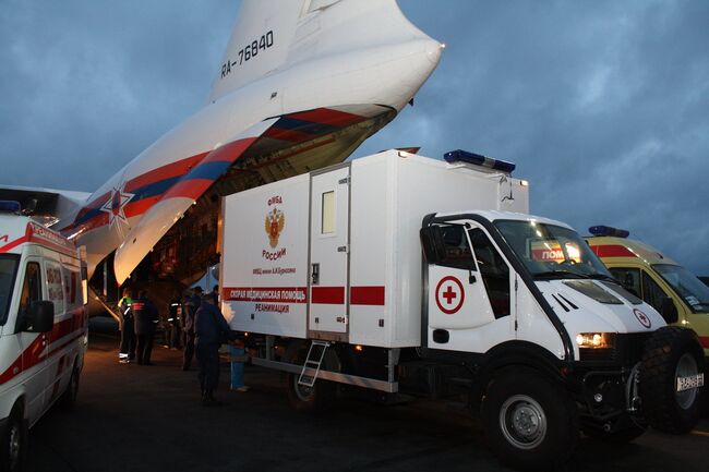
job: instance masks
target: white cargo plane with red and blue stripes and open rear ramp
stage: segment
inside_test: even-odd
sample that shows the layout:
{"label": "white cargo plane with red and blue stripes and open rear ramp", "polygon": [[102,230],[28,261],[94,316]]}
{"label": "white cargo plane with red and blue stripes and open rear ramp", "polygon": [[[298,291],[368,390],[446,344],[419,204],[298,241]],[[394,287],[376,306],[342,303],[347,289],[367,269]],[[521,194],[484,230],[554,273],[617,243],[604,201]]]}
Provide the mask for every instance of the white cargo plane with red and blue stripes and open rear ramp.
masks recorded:
{"label": "white cargo plane with red and blue stripes and open rear ramp", "polygon": [[395,0],[244,0],[204,108],[91,195],[0,198],[85,246],[94,282],[189,285],[218,261],[220,196],[345,160],[411,102],[443,47]]}

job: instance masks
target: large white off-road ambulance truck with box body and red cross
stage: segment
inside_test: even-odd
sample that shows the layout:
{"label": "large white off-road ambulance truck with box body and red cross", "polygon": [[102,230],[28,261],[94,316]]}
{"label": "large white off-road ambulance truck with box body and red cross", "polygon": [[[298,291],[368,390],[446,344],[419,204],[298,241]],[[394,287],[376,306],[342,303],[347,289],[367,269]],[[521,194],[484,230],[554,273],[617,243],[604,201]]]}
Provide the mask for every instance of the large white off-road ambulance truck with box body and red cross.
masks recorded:
{"label": "large white off-road ambulance truck with box body and red cross", "polygon": [[514,165],[446,160],[389,150],[225,197],[221,307],[252,362],[285,371],[299,409],[338,384],[464,400],[521,469],[562,464],[579,429],[692,428],[696,336],[567,225],[527,215]]}

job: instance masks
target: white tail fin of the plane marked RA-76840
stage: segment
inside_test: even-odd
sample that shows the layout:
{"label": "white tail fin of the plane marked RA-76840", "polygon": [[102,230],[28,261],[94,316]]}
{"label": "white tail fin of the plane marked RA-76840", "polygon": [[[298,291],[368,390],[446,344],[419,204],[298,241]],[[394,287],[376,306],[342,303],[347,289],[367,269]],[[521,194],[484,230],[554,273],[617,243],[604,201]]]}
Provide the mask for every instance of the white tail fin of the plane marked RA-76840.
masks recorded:
{"label": "white tail fin of the plane marked RA-76840", "polygon": [[244,0],[209,101],[305,60],[417,38],[430,39],[396,0]]}

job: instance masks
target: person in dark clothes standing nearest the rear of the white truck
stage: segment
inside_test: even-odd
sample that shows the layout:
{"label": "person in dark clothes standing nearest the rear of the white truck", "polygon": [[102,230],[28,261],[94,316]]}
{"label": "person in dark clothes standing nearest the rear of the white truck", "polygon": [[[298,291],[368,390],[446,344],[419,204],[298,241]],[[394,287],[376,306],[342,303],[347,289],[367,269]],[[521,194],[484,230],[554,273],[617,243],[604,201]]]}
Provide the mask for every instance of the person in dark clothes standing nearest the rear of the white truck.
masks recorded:
{"label": "person in dark clothes standing nearest the rear of the white truck", "polygon": [[195,315],[195,353],[200,363],[200,386],[202,403],[214,404],[214,390],[219,384],[219,346],[231,337],[229,325],[215,305],[213,293],[202,299],[202,305]]}

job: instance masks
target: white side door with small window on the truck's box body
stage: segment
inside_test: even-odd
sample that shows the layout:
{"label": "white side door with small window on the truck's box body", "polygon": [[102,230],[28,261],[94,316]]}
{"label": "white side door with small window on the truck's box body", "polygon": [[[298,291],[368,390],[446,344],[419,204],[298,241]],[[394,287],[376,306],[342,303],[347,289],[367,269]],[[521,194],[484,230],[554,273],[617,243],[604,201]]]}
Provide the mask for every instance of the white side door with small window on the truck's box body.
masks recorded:
{"label": "white side door with small window on the truck's box body", "polygon": [[311,181],[308,327],[313,337],[347,340],[349,170],[343,167]]}

